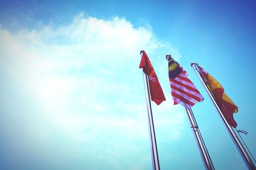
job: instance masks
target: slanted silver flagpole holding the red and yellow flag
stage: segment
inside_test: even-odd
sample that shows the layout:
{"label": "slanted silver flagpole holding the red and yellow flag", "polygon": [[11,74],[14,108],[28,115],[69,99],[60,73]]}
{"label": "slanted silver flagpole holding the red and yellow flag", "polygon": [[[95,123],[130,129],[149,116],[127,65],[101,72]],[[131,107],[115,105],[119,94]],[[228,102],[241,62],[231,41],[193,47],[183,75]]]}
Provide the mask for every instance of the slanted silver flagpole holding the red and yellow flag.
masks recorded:
{"label": "slanted silver flagpole holding the red and yellow flag", "polygon": [[250,158],[250,155],[246,152],[244,146],[242,145],[241,141],[239,140],[239,138],[237,137],[236,133],[234,132],[234,129],[228,124],[226,118],[224,117],[222,111],[220,110],[220,107],[216,103],[216,101],[214,99],[214,96],[212,95],[212,92],[211,92],[211,89],[209,88],[209,85],[207,85],[207,83],[206,83],[204,75],[202,74],[202,72],[198,68],[198,64],[191,63],[191,66],[193,67],[193,69],[195,70],[198,78],[201,80],[202,84],[204,85],[204,88],[207,91],[207,94],[211,98],[212,103],[214,104],[216,110],[218,111],[218,113],[219,113],[223,123],[225,124],[225,127],[226,127],[228,133],[230,134],[230,137],[233,139],[233,141],[234,141],[234,143],[235,143],[235,145],[237,147],[237,150],[239,150],[239,153],[240,153],[241,157],[243,158],[246,166],[248,167],[248,169],[255,170],[256,167],[253,164],[253,161]]}

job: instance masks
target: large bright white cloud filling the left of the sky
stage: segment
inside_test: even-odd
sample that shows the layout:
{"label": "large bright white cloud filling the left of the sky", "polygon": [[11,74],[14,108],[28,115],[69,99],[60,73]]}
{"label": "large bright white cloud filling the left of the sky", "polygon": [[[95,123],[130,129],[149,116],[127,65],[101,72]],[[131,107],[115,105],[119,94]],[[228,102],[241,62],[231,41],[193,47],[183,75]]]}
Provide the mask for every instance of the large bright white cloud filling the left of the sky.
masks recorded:
{"label": "large bright white cloud filling the left of the sky", "polygon": [[[20,155],[26,153],[41,164],[61,154],[65,164],[74,158],[92,160],[81,165],[92,169],[104,164],[109,169],[123,164],[148,169],[147,113],[138,69],[142,49],[151,54],[173,50],[151,29],[136,28],[120,17],[102,20],[81,13],[61,27],[42,25],[15,33],[0,27],[0,116],[5,118],[0,126],[10,127],[0,134],[6,137],[2,143],[12,141],[6,152],[19,148]],[[179,110],[174,115],[164,112],[175,111],[170,103],[168,99],[153,106],[164,142],[179,140],[184,128]],[[177,129],[168,131],[170,126]],[[149,155],[141,158],[145,152]],[[121,160],[124,154],[144,162],[136,167],[138,161]],[[12,158],[20,155],[10,152]]]}

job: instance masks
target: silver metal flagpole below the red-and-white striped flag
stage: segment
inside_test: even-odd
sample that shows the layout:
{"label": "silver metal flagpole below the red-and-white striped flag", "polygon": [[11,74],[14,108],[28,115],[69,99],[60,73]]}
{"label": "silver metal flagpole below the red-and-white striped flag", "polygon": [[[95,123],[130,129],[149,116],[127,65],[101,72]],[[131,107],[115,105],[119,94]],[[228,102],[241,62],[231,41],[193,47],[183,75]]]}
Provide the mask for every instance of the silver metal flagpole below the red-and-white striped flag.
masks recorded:
{"label": "silver metal flagpole below the red-and-white striped flag", "polygon": [[189,118],[189,122],[191,124],[191,128],[193,129],[193,133],[194,133],[194,136],[195,136],[195,139],[196,139],[196,144],[200,150],[200,155],[201,155],[201,158],[204,162],[204,167],[205,169],[207,170],[214,170],[214,166],[212,164],[212,160],[211,160],[211,157],[207,151],[207,148],[205,146],[205,143],[204,143],[204,139],[202,138],[202,134],[198,128],[198,125],[196,124],[196,119],[193,115],[193,111],[191,110],[191,108],[189,107],[188,108],[185,108],[186,109],[186,112],[188,114],[188,118]]}

